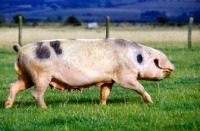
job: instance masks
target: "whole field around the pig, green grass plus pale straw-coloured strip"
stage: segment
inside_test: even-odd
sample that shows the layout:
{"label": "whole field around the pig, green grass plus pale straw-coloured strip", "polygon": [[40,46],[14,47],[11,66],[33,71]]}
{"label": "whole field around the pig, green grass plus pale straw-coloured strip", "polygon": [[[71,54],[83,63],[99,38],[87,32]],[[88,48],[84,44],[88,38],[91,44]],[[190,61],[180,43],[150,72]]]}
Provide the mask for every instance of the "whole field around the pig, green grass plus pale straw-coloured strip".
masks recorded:
{"label": "whole field around the pig, green grass plus pale straw-coloured strip", "polygon": [[[24,28],[23,44],[41,39],[104,38],[104,27]],[[154,104],[143,102],[135,92],[114,85],[107,106],[99,105],[99,89],[82,93],[48,88],[47,109],[39,109],[30,88],[17,95],[10,109],[3,109],[8,85],[17,79],[16,28],[0,29],[0,131],[183,131],[200,130],[200,30],[192,34],[187,50],[187,28],[111,27],[110,37],[125,38],[163,51],[176,70],[160,82],[141,81]]]}

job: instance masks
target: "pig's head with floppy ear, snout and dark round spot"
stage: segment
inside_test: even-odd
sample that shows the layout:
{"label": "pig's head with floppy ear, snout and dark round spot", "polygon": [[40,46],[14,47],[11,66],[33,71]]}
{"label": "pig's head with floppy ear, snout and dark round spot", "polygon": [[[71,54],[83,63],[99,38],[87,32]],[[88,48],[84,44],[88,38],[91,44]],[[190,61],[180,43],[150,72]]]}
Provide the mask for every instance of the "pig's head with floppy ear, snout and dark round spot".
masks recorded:
{"label": "pig's head with floppy ear, snout and dark round spot", "polygon": [[174,70],[174,65],[166,55],[153,48],[142,47],[136,52],[135,58],[140,68],[138,79],[162,80]]}

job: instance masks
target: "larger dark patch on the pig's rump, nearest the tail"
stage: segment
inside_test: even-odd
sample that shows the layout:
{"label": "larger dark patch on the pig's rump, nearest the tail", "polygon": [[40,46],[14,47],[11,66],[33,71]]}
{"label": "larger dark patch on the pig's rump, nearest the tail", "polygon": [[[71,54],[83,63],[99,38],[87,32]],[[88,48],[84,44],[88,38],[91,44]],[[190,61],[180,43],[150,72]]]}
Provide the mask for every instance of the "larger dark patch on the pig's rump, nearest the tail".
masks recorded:
{"label": "larger dark patch on the pig's rump, nearest the tail", "polygon": [[36,57],[39,59],[48,59],[50,58],[50,50],[47,46],[42,46],[42,42],[37,43],[37,48],[36,48]]}

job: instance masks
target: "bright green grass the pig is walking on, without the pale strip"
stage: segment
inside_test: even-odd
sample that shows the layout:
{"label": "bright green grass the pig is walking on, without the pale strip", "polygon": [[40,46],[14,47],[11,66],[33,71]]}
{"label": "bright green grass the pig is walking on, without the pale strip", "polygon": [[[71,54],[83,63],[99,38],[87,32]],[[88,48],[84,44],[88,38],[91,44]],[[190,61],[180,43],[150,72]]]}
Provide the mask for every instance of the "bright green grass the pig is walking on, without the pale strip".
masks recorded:
{"label": "bright green grass the pig is walking on, without the pale strip", "polygon": [[99,105],[97,87],[83,93],[48,88],[47,109],[37,107],[31,96],[33,88],[20,92],[12,108],[3,109],[8,85],[17,79],[13,69],[17,53],[0,48],[0,131],[200,130],[200,47],[196,44],[191,51],[157,47],[176,70],[160,82],[141,81],[154,104],[143,102],[137,93],[115,84],[107,106]]}

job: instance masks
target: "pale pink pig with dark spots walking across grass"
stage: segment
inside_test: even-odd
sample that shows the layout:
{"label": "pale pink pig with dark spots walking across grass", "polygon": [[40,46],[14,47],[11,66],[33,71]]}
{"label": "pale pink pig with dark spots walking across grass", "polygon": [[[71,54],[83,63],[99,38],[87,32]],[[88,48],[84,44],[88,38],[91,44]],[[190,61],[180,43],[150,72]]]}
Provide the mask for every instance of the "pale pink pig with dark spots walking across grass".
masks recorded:
{"label": "pale pink pig with dark spots walking across grass", "polygon": [[96,85],[100,87],[100,104],[106,105],[114,82],[153,103],[138,80],[159,81],[174,70],[161,51],[120,38],[42,40],[13,48],[18,52],[18,80],[9,86],[5,108],[12,107],[18,92],[32,86],[38,106],[46,108],[48,85],[69,91]]}

